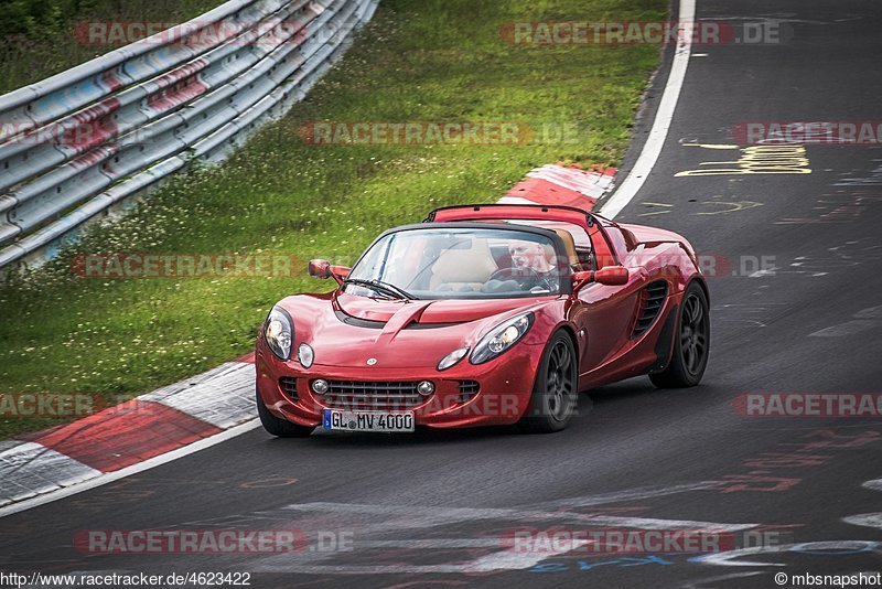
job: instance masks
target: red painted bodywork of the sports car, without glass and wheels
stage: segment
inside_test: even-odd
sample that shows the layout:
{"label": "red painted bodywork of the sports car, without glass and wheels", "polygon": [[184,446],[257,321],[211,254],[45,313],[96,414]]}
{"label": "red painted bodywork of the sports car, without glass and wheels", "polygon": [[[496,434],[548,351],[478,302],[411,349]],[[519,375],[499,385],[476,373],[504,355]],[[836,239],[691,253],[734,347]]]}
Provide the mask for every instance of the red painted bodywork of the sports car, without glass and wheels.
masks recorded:
{"label": "red painted bodywork of the sports car, without glass and wheels", "polygon": [[[546,343],[558,330],[571,336],[579,358],[579,388],[657,372],[671,353],[675,310],[684,290],[698,280],[707,291],[691,246],[670,232],[616,225],[584,211],[531,205],[475,205],[435,211],[427,222],[541,221],[579,225],[591,236],[598,268],[621,264],[630,270],[621,286],[588,283],[576,293],[499,299],[379,300],[336,289],[324,294],[297,294],[279,301],[293,319],[294,341],[309,343],[315,363],[304,368],[282,361],[257,339],[257,389],[277,417],[319,426],[333,407],[315,395],[315,378],[356,382],[431,381],[433,395],[406,407],[416,422],[431,427],[488,426],[516,422],[527,411]],[[664,303],[645,331],[647,287]],[[524,338],[484,364],[463,358],[445,371],[439,361],[474,344],[502,321],[533,311],[535,322]],[[368,358],[373,364],[368,364]],[[281,379],[288,378],[288,389]],[[297,393],[290,393],[293,379]],[[462,401],[461,384],[478,392]]]}

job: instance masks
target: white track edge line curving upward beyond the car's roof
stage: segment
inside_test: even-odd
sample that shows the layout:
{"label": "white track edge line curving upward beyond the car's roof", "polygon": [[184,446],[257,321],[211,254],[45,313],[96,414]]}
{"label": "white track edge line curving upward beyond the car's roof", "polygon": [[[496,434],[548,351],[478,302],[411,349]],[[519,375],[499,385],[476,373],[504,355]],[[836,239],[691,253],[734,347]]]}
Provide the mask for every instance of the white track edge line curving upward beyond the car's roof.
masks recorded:
{"label": "white track edge line curving upward beyond the car's roof", "polygon": [[655,162],[658,161],[662,147],[668,136],[670,121],[674,119],[674,111],[677,109],[677,100],[680,98],[682,82],[686,78],[686,68],[689,65],[689,53],[692,47],[688,28],[692,25],[695,20],[696,0],[680,0],[678,26],[680,31],[686,30],[687,32],[678,35],[674,63],[670,66],[668,82],[665,85],[665,92],[662,95],[653,128],[649,130],[649,137],[646,139],[646,143],[643,146],[643,150],[631,173],[619,186],[619,190],[613,193],[612,197],[601,207],[601,214],[607,218],[614,218],[634,199],[643,188],[643,183],[646,182],[646,178],[653,171]]}

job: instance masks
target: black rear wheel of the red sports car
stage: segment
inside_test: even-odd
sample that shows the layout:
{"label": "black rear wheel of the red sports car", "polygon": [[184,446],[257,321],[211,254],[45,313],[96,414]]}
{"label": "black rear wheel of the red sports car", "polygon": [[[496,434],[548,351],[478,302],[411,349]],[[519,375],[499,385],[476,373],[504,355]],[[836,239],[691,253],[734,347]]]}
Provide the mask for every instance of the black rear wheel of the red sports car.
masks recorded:
{"label": "black rear wheel of the red sports car", "polygon": [[682,294],[667,367],[649,375],[658,388],[696,386],[704,375],[710,355],[710,309],[704,290],[690,282]]}

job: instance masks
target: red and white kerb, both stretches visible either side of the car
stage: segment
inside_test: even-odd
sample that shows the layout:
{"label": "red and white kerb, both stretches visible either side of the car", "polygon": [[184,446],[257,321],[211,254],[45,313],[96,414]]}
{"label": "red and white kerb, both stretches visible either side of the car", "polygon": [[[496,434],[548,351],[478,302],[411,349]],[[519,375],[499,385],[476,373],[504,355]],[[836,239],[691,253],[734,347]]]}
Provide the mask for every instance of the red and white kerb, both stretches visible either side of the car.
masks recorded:
{"label": "red and white kerb, both stretches visible either side of the car", "polygon": [[[542,165],[501,203],[590,211],[615,169]],[[175,460],[258,427],[254,355],[90,415],[0,441],[0,517]]]}

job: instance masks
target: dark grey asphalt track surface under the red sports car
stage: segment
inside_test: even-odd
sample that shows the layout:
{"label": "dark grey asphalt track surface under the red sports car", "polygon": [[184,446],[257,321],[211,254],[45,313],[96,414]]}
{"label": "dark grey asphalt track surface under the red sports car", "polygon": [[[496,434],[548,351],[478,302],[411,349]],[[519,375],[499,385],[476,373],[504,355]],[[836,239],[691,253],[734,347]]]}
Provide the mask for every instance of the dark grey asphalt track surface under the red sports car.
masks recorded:
{"label": "dark grey asphalt track surface under the red sports car", "polygon": [[[742,158],[698,147],[732,143],[740,122],[880,120],[882,4],[702,0],[697,10],[699,19],[782,21],[792,34],[783,44],[692,47],[662,156],[617,217],[680,232],[699,253],[721,256],[724,276],[709,280],[712,353],[701,386],[660,392],[645,377],[607,386],[582,395],[578,419],[551,436],[498,428],[280,440],[256,429],[0,520],[0,569],[249,571],[254,587],[506,588],[776,587],[776,572],[882,570],[880,518],[876,527],[845,521],[882,506],[882,485],[864,484],[882,478],[882,422],[743,417],[732,405],[744,393],[880,390],[882,150],[808,146],[810,174],[675,175]],[[763,256],[776,269],[757,275]],[[744,529],[797,546],[711,564],[695,554],[524,554],[499,540],[524,527],[628,525],[730,526],[739,546]],[[83,529],[232,527],[351,534],[353,549],[73,547]]]}

